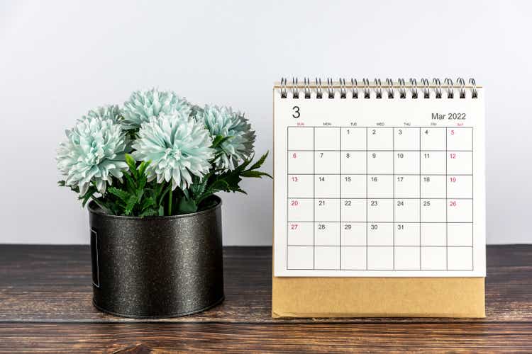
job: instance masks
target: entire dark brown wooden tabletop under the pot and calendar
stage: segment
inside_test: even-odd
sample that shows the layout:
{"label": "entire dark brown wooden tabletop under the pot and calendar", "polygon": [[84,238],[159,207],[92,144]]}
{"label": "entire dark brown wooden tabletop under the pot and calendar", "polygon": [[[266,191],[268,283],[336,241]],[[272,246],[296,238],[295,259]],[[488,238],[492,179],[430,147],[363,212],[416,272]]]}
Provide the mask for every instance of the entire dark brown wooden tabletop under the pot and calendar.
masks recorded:
{"label": "entire dark brown wooden tabletop under the pot and calendar", "polygon": [[488,246],[486,319],[272,319],[270,247],[224,249],[226,301],[123,319],[92,307],[88,246],[0,245],[0,352],[532,352],[532,245]]}

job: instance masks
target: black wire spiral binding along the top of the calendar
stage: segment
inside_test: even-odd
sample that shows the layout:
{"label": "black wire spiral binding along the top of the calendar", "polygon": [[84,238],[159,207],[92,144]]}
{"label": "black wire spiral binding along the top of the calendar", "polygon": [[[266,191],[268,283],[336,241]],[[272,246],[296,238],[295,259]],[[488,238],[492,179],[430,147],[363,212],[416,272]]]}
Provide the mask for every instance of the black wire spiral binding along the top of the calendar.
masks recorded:
{"label": "black wire spiral binding along the top of the calendar", "polygon": [[[329,99],[336,98],[336,93],[339,93],[340,99],[353,98],[362,99],[368,98],[377,98],[382,99],[387,97],[388,99],[404,99],[404,98],[454,98],[455,89],[458,91],[459,98],[478,98],[478,86],[475,82],[475,79],[469,79],[468,84],[466,85],[465,79],[459,77],[456,79],[456,84],[453,84],[453,80],[450,78],[443,79],[443,84],[441,84],[440,79],[434,78],[432,81],[429,81],[426,78],[420,80],[420,84],[414,78],[409,79],[409,84],[406,84],[404,79],[393,79],[387,78],[385,83],[382,83],[381,79],[374,79],[373,82],[367,78],[362,79],[362,84],[358,84],[357,79],[351,78],[349,81],[346,81],[344,78],[334,81],[333,78],[328,77],[324,84],[321,83],[321,78],[316,77],[314,79],[314,84],[309,77],[303,79],[303,84],[299,84],[298,78],[292,78],[292,85],[287,84],[287,79],[282,78],[281,84],[279,86],[279,91],[281,93],[281,98],[287,98],[288,92],[291,91],[292,98],[299,98],[300,89],[303,92],[303,97],[308,99],[311,98],[312,93],[315,93],[315,97],[318,99],[323,98],[323,92],[326,92],[326,97]],[[348,84],[346,84],[346,82]],[[362,91],[362,95],[359,96],[359,89]],[[350,93],[348,95],[348,92]],[[382,93],[385,93],[384,95]],[[421,96],[419,94],[421,92]],[[469,95],[467,93],[470,93]]]}

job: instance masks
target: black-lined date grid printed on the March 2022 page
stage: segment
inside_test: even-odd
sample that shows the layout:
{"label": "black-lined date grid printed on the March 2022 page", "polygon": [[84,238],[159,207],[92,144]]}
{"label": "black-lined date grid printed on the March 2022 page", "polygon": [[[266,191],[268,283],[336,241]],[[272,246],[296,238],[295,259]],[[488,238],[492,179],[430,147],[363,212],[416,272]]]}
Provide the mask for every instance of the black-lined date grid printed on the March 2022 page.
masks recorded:
{"label": "black-lined date grid printed on the March 2022 page", "polygon": [[[331,133],[321,131],[331,128],[338,130],[339,137],[336,135],[336,130]],[[424,137],[426,130],[423,127],[287,127],[287,153],[289,157],[294,159],[287,160],[287,204],[299,205],[299,210],[306,210],[306,205],[312,207],[312,212],[310,213],[309,210],[310,214],[306,215],[304,213],[291,214],[287,208],[287,234],[290,234],[291,229],[292,231],[298,229],[301,230],[299,235],[303,237],[298,240],[294,239],[293,236],[292,239],[287,236],[287,269],[473,270],[473,263],[471,263],[471,268],[462,269],[460,267],[467,263],[457,263],[454,258],[451,258],[456,257],[457,254],[463,254],[464,251],[458,251],[459,249],[469,248],[472,253],[474,252],[472,234],[470,235],[470,245],[460,244],[462,241],[456,239],[456,236],[453,239],[454,243],[450,244],[450,223],[453,224],[454,232],[460,229],[458,227],[460,224],[471,225],[471,227],[467,226],[460,230],[467,230],[468,227],[472,230],[472,215],[467,216],[467,219],[460,215],[462,210],[467,211],[467,207],[472,214],[472,191],[468,192],[470,195],[465,195],[463,192],[457,194],[457,187],[453,184],[458,180],[462,183],[461,185],[456,183],[459,185],[458,190],[465,188],[463,183],[466,183],[466,187],[467,183],[470,183],[470,188],[473,188],[472,166],[457,169],[456,166],[458,165],[455,162],[462,161],[458,159],[463,159],[463,156],[466,156],[463,161],[469,161],[467,164],[472,165],[472,149],[454,149],[457,147],[456,144],[450,147],[449,139],[455,134],[454,131],[451,132],[450,127],[428,128],[430,128],[431,134],[434,134],[436,130],[443,129],[441,135],[439,133],[435,135],[444,138],[438,145],[439,149],[430,148],[431,146],[435,147],[431,142],[433,138],[430,135],[429,138]],[[454,127],[454,130],[461,128]],[[472,144],[472,128],[465,128],[470,129],[470,142]],[[309,139],[306,139],[304,144],[306,149],[289,148],[291,144],[290,129],[309,129],[309,135],[306,135]],[[343,131],[343,129],[347,131]],[[362,139],[362,135],[365,135],[363,145],[358,145],[361,147],[360,149],[352,148],[357,146],[356,144],[353,145],[353,141],[350,142],[350,139],[355,139],[353,135],[343,135],[350,134],[348,130],[353,130],[351,134],[356,134],[356,137],[360,137],[360,139]],[[377,137],[375,140],[375,130],[379,134],[384,134],[383,137]],[[414,136],[417,131],[419,142],[414,143],[408,140],[408,144],[406,144],[405,139],[411,139],[402,135],[406,130],[410,130],[409,134],[414,130]],[[374,137],[370,137],[371,134]],[[412,137],[412,135],[410,134],[408,137]],[[423,139],[425,139],[424,144],[426,145],[423,145]],[[385,149],[385,147],[390,147],[389,144],[391,144],[392,149]],[[414,147],[414,144],[419,144],[417,149],[404,148],[405,146]],[[465,147],[464,144],[460,146]],[[310,147],[312,149],[309,149]],[[425,149],[426,147],[429,148]],[[365,158],[360,153],[364,153]],[[412,155],[415,156],[416,153],[418,154],[417,164],[419,166],[414,169],[415,164],[412,164],[411,161],[413,161]],[[296,158],[299,160],[296,161]],[[415,159],[414,157],[414,161]],[[436,161],[434,159],[441,159],[443,166],[434,165],[434,161]],[[295,165],[291,166],[291,161]],[[311,168],[310,164],[312,164]],[[386,164],[388,164],[387,167],[385,167]],[[450,166],[455,166],[455,168],[450,170]],[[467,169],[471,169],[471,172],[467,173]],[[417,171],[418,173],[406,173],[409,171]],[[365,178],[365,182],[363,182],[365,185],[362,185],[361,176]],[[389,179],[390,176],[391,180]],[[460,177],[465,177],[465,179]],[[401,178],[400,181],[399,178]],[[403,178],[404,184],[401,183]],[[416,188],[411,187],[411,182],[414,182],[416,178],[419,178],[419,183],[417,183],[419,190],[417,192]],[[409,182],[406,183],[406,181]],[[301,189],[301,186],[304,187],[305,185],[308,185],[309,188]],[[386,185],[389,187],[385,187]],[[291,186],[294,187],[292,193]],[[436,190],[430,189],[435,188],[435,186],[437,187]],[[365,189],[365,195],[362,194],[362,189],[356,191],[358,187]],[[382,188],[387,191],[384,192]],[[450,194],[449,188],[455,192]],[[407,202],[408,200],[411,202]],[[419,202],[415,202],[415,200]],[[362,209],[360,209],[362,205],[364,205],[365,217],[362,215]],[[414,205],[419,205],[419,218],[414,217],[412,219],[411,216],[415,215],[415,213],[411,214]],[[466,209],[463,209],[463,205],[466,205]],[[445,207],[445,211],[443,207]],[[439,217],[437,210],[441,210]],[[458,214],[455,210],[458,210]],[[453,219],[450,219],[450,215],[454,215]],[[305,224],[310,224],[312,231]],[[414,224],[417,225],[418,229],[409,226]],[[355,227],[355,225],[363,225],[364,230],[362,231],[362,226]],[[390,226],[386,225],[391,225],[391,229]],[[438,235],[441,236],[437,236],[440,241],[435,241],[436,233],[434,230],[440,230]],[[353,237],[362,236],[362,232],[364,232],[365,241],[360,238],[358,239],[360,241],[353,241]],[[443,234],[444,232],[445,234]],[[305,241],[305,233],[311,239],[307,237]],[[294,232],[292,234],[295,235]],[[411,237],[417,236],[416,234],[419,235],[418,241],[413,244]],[[290,247],[292,247],[292,251]],[[304,251],[305,248],[307,251]],[[379,249],[382,251],[377,251]],[[436,249],[442,250],[429,251]],[[450,249],[453,249],[453,256],[451,256]],[[310,251],[312,253],[310,267],[294,261],[292,261],[294,262],[292,263],[293,266],[289,265],[290,259],[294,259],[290,258],[289,253],[309,254],[310,256]],[[365,252],[364,256],[362,252]],[[419,262],[409,261],[412,256],[417,256],[418,253]],[[439,260],[436,263],[433,260],[434,255]],[[388,261],[386,261],[386,257]],[[450,263],[451,259],[453,259],[453,266]],[[469,259],[472,260],[472,258]],[[433,266],[435,264],[436,266]],[[415,268],[412,268],[413,265]]]}

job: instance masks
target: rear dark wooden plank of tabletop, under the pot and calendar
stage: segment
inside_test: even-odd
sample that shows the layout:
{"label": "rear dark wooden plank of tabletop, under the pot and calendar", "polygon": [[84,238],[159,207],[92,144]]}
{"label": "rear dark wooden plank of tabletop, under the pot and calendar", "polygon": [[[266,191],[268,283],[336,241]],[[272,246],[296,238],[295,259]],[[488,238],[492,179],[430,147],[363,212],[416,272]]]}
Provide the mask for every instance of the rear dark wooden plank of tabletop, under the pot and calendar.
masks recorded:
{"label": "rear dark wooden plank of tabletop, under the pot and calendar", "polygon": [[[272,249],[226,247],[226,300],[201,314],[163,322],[277,322],[271,318]],[[487,318],[532,321],[532,245],[488,246]],[[92,306],[88,246],[0,245],[0,321],[134,322]],[[442,322],[468,319],[290,319],[284,322]]]}

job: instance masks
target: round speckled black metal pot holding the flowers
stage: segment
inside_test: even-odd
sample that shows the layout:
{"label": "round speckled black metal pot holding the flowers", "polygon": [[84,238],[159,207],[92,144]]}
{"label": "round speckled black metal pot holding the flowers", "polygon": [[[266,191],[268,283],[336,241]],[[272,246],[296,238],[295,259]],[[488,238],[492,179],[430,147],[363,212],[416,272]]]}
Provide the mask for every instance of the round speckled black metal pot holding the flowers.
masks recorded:
{"label": "round speckled black metal pot holding the flowers", "polygon": [[94,306],[116,316],[177,317],[223,301],[221,199],[201,212],[121,217],[89,204]]}

